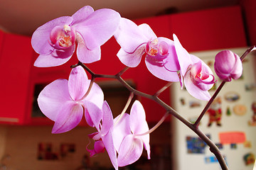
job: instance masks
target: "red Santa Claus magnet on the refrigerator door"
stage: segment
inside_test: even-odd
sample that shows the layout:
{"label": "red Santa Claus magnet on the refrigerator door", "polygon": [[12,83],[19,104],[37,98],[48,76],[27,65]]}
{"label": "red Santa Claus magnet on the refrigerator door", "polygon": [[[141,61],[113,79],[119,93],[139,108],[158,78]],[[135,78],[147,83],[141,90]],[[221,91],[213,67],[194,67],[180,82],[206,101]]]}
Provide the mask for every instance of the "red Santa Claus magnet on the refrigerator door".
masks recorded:
{"label": "red Santa Claus magnet on the refrigerator door", "polygon": [[212,123],[216,123],[218,126],[221,125],[220,120],[222,117],[222,111],[221,111],[221,99],[220,97],[215,98],[213,103],[210,105],[210,108],[208,109],[207,113],[209,114],[209,123],[208,127],[212,125]]}

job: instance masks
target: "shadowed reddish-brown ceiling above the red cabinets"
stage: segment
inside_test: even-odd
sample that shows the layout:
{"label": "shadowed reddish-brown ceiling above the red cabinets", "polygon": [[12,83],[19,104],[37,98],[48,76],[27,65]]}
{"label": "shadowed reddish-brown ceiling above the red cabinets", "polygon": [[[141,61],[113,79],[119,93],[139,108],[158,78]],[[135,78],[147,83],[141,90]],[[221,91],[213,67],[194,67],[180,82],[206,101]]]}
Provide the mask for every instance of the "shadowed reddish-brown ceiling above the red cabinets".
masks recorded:
{"label": "shadowed reddish-brown ceiling above the red cabinets", "polygon": [[82,6],[112,8],[122,17],[155,16],[166,8],[178,12],[238,4],[239,0],[0,0],[0,29],[32,35],[38,26],[60,16],[71,16]]}

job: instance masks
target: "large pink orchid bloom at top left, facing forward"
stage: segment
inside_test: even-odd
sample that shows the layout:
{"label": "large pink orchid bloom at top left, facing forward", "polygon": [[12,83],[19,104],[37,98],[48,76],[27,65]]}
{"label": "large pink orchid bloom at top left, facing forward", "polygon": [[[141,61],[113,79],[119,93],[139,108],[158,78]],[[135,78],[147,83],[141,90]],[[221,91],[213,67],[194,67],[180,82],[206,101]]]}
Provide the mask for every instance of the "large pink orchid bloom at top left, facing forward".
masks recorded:
{"label": "large pink orchid bloom at top left, facing forward", "polygon": [[32,35],[33,49],[39,54],[34,65],[54,67],[68,62],[75,52],[75,42],[80,62],[100,60],[100,46],[114,35],[120,18],[112,9],[94,11],[91,6],[84,6],[73,16],[45,23]]}

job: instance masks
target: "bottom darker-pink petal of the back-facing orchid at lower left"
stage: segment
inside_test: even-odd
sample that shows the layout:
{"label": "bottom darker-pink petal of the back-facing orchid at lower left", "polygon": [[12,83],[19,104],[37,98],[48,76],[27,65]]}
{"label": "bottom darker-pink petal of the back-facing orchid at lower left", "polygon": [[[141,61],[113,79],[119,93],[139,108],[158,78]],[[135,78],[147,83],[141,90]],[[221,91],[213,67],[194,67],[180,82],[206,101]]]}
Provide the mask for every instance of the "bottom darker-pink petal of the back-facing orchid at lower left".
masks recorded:
{"label": "bottom darker-pink petal of the back-facing orchid at lower left", "polygon": [[52,133],[68,132],[82,120],[83,108],[75,102],[66,102],[58,111]]}

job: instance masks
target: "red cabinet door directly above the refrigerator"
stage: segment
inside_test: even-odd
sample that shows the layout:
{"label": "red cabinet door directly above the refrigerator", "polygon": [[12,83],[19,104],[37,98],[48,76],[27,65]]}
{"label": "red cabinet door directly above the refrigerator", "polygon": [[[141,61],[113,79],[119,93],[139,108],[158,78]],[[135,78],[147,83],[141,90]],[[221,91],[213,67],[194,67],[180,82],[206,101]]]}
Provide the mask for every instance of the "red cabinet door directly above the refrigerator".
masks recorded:
{"label": "red cabinet door directly above the refrigerator", "polygon": [[170,26],[188,52],[247,45],[240,6],[177,13]]}

